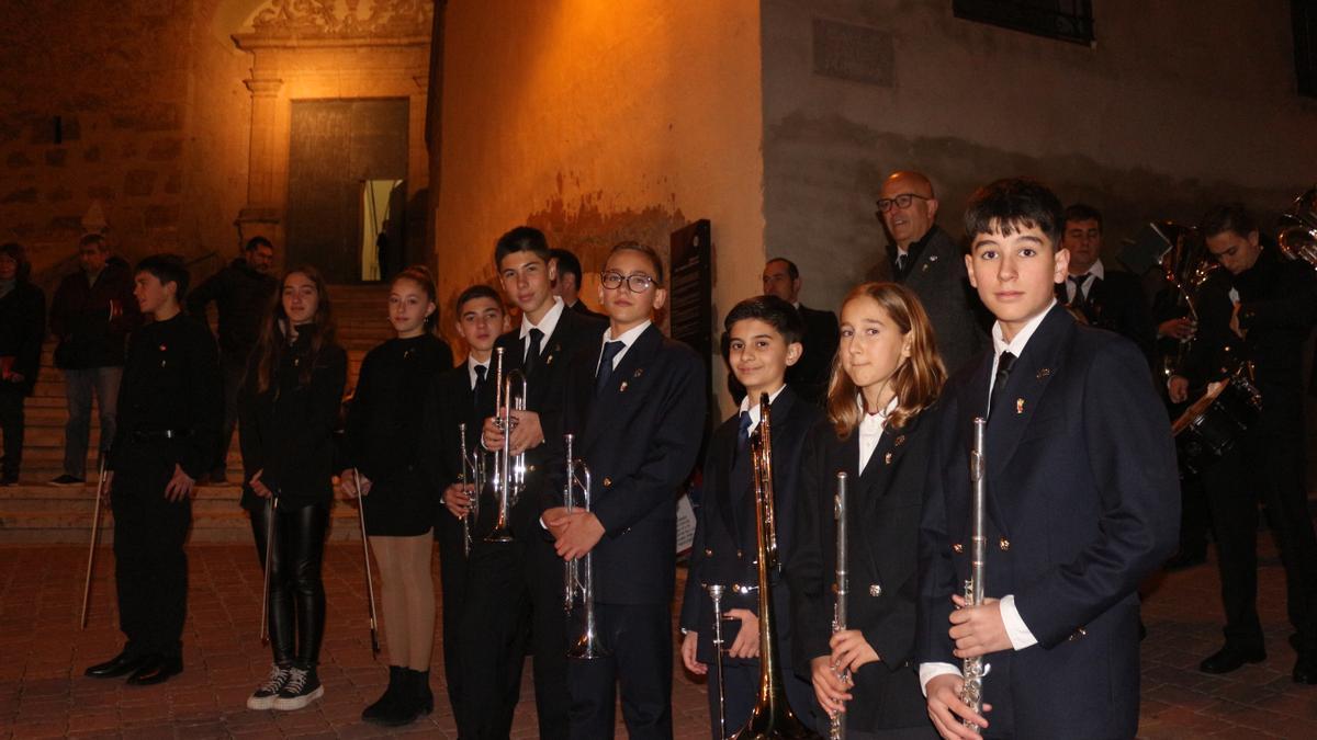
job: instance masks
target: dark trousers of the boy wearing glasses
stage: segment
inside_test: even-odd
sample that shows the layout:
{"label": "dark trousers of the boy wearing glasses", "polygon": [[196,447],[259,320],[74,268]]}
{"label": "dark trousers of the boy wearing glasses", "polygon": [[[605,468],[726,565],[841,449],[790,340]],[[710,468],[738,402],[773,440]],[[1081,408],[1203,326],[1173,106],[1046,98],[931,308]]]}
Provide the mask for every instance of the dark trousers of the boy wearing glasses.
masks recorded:
{"label": "dark trousers of the boy wearing glasses", "polygon": [[660,604],[595,604],[607,657],[570,661],[572,737],[614,736],[618,686],[633,740],[672,739],[672,612]]}

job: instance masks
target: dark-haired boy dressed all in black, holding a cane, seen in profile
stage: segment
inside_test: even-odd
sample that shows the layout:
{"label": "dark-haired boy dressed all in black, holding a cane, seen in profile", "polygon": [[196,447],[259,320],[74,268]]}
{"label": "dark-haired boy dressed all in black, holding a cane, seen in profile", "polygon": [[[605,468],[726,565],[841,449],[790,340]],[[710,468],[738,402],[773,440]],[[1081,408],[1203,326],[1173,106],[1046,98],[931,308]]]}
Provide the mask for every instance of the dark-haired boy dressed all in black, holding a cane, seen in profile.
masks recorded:
{"label": "dark-haired boy dressed all in black, holding a cane, seen in profile", "polygon": [[128,643],[94,678],[132,674],[151,685],[183,670],[187,556],[196,479],[219,437],[223,408],[215,338],[182,313],[187,267],[174,255],[137,263],[134,295],[153,321],[133,333],[107,465],[115,512],[119,624]]}

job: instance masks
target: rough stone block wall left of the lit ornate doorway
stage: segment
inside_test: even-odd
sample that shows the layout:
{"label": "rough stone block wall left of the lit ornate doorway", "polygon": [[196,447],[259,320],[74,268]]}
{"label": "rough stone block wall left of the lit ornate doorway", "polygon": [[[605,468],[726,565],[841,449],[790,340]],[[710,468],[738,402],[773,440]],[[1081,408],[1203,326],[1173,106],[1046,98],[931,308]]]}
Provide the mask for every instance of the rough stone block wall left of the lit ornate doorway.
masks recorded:
{"label": "rough stone block wall left of the lit ornate doorway", "polygon": [[92,203],[129,259],[233,253],[250,63],[208,33],[217,3],[9,4],[0,238],[25,244],[38,275],[65,266]]}

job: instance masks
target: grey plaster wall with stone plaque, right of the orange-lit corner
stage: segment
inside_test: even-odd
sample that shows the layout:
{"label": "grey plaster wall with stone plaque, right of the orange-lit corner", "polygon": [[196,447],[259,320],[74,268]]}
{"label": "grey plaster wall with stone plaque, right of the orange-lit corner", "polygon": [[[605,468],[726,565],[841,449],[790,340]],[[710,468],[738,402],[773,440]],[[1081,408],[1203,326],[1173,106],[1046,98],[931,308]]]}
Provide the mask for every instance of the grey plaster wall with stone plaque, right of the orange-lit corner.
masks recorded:
{"label": "grey plaster wall with stone plaque, right of the orange-lit corner", "polygon": [[[873,201],[896,169],[934,179],[957,237],[975,187],[1039,178],[1105,212],[1109,253],[1221,200],[1270,221],[1317,179],[1288,3],[1093,7],[1088,47],[955,18],[948,0],[763,1],[765,244],[799,263],[806,303],[835,307],[880,259]],[[819,24],[864,42],[817,49]],[[839,79],[817,53],[876,63]]]}

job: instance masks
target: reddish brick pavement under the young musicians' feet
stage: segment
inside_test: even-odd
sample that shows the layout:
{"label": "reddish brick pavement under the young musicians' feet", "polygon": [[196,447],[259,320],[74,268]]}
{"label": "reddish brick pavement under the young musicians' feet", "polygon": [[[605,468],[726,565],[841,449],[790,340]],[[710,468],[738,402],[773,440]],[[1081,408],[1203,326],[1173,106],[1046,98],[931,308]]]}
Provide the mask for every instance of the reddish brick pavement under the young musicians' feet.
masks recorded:
{"label": "reddish brick pavement under the young musicians' feet", "polygon": [[[1227,677],[1197,672],[1218,647],[1221,607],[1210,566],[1163,578],[1144,606],[1141,736],[1317,737],[1317,687],[1289,681],[1293,653],[1284,618],[1284,578],[1264,539],[1260,608],[1267,662]],[[332,544],[325,564],[328,624],[321,679],[325,699],[298,712],[248,711],[269,653],[257,641],[261,570],[245,545],[194,545],[184,635],[186,670],[163,686],[134,689],[95,681],[82,670],[120,645],[112,556],[99,556],[94,610],[86,632],[78,607],[86,550],[0,548],[0,737],[375,737],[361,708],[383,689],[386,672],[370,657],[360,545]],[[437,586],[436,586],[437,590]],[[436,656],[440,647],[436,644]],[[676,670],[678,737],[707,737],[705,689]],[[433,677],[435,714],[396,735],[454,737]],[[620,716],[620,715],[619,715]],[[527,669],[515,737],[533,737],[533,690]],[[624,732],[619,732],[623,737]]]}

